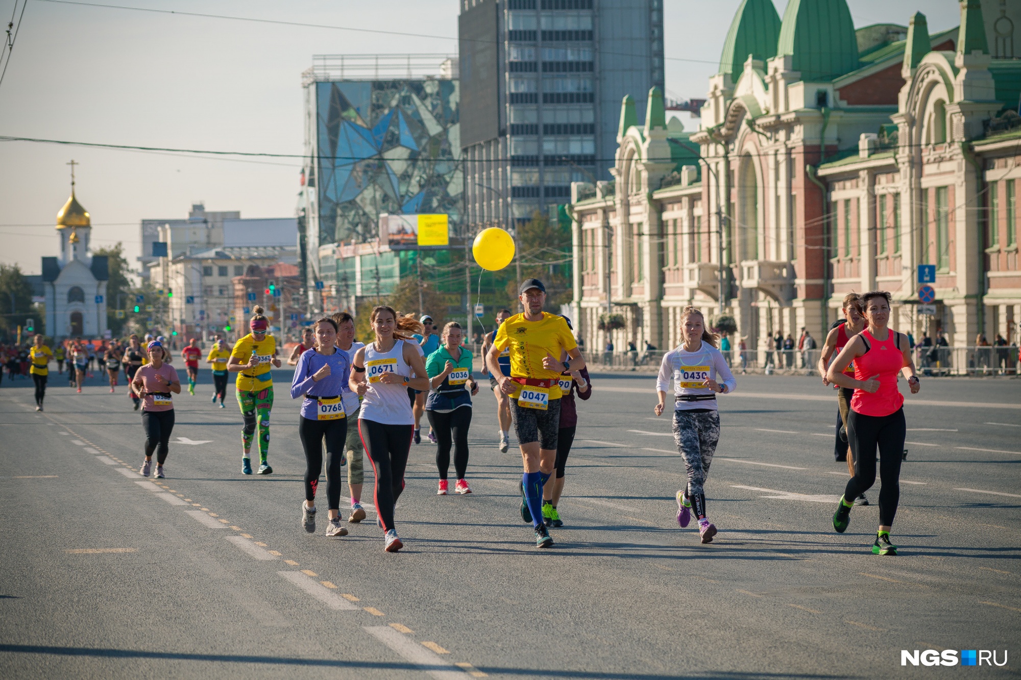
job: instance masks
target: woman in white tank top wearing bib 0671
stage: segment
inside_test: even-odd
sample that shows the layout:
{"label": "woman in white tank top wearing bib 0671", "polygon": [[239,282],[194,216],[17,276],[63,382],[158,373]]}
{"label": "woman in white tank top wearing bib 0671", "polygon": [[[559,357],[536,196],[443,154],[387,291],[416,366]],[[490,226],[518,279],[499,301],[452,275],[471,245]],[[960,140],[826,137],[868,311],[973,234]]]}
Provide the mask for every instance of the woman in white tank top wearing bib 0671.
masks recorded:
{"label": "woman in white tank top wearing bib 0671", "polygon": [[415,429],[407,388],[428,390],[429,378],[422,354],[411,346],[411,334],[422,329],[421,323],[410,314],[398,319],[386,306],[374,307],[370,320],[376,340],[354,353],[350,386],[364,397],[358,432],[376,473],[376,512],[386,532],[384,549],[396,552],[403,543],[394,528],[393,506],[404,490]]}

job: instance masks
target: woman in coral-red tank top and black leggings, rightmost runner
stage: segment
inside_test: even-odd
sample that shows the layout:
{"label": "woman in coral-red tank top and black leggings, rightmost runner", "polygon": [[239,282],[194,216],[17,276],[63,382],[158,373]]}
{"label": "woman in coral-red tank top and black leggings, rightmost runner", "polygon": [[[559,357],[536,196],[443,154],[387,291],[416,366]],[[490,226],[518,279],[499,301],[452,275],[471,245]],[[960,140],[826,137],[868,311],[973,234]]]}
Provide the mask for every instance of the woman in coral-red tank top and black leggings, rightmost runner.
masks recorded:
{"label": "woman in coral-red tank top and black leggings, rightmost runner", "polygon": [[[855,476],[847,481],[843,496],[833,514],[833,528],[843,533],[850,523],[854,499],[876,481],[876,448],[879,448],[879,531],[872,544],[874,554],[896,554],[890,542],[890,528],[901,500],[901,460],[907,424],[904,395],[897,389],[897,375],[904,373],[912,394],[921,385],[915,375],[908,336],[891,331],[890,294],[872,291],[862,295],[867,327],[856,335],[830,365],[826,378],[836,385],[855,389],[847,416],[847,443],[855,455]],[[843,373],[855,362],[855,377]],[[848,500],[848,498],[850,500]]]}

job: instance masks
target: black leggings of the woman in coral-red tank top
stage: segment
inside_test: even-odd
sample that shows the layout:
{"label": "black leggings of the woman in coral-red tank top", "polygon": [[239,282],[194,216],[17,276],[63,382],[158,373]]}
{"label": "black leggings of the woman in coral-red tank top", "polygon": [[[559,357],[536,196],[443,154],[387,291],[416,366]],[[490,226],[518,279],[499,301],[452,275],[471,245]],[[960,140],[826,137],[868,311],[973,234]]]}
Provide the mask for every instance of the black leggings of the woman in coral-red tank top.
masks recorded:
{"label": "black leggings of the woman in coral-red tank top", "polygon": [[889,527],[901,500],[901,460],[907,436],[904,408],[889,416],[847,416],[847,443],[855,455],[855,476],[847,480],[843,497],[854,500],[876,481],[876,447],[879,447],[879,524]]}

